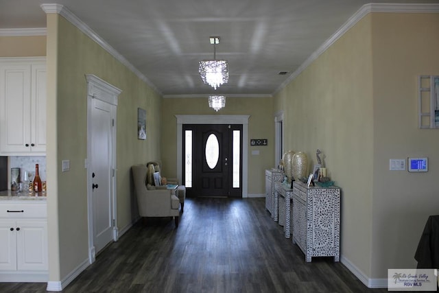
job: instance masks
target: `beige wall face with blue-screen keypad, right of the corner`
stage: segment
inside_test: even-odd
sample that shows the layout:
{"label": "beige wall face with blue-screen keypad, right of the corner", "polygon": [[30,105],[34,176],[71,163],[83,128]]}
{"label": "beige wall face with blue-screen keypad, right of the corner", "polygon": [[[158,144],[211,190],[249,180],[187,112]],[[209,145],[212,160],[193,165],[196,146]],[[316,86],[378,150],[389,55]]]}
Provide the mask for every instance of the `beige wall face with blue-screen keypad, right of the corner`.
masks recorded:
{"label": "beige wall face with blue-screen keypad, right of the corner", "polygon": [[[439,75],[439,13],[372,14],[374,159],[372,278],[415,268],[439,207],[439,129],[418,129],[418,75]],[[389,159],[427,156],[427,173],[389,171]]]}

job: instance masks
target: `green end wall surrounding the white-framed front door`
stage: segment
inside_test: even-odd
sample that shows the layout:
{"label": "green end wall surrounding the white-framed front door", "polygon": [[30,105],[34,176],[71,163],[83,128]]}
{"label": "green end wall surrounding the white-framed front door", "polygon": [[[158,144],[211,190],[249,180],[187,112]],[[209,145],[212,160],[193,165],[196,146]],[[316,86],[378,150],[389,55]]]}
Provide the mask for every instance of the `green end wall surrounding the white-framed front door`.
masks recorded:
{"label": "green end wall surrounding the white-framed front door", "polygon": [[[272,97],[226,97],[226,107],[215,112],[207,97],[165,98],[162,107],[163,174],[177,176],[177,119],[175,115],[250,115],[249,139],[268,139],[268,146],[250,147],[248,141],[248,195],[265,195],[264,169],[274,167],[274,115]],[[252,155],[259,150],[259,155]]]}

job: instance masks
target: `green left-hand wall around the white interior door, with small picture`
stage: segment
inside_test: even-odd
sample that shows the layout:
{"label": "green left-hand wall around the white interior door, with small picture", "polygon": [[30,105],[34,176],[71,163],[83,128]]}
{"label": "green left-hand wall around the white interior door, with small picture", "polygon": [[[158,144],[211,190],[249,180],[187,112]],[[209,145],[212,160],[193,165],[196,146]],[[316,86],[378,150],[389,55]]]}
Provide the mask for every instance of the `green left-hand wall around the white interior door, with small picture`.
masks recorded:
{"label": "green left-hand wall around the white interior door, with small picture", "polygon": [[[50,281],[64,279],[88,258],[87,224],[87,99],[85,74],[94,74],[121,89],[117,106],[117,226],[119,231],[132,223],[133,209],[130,167],[161,156],[161,96],[134,75],[95,41],[58,14],[48,14],[49,84],[47,181],[49,244],[59,255],[49,255]],[[147,110],[147,139],[137,139],[137,108]],[[50,145],[49,145],[50,144]],[[58,165],[70,160],[70,171]],[[54,190],[55,189],[55,190]],[[49,191],[50,190],[50,191]],[[56,221],[58,218],[58,221]],[[59,263],[59,272],[56,269]]]}

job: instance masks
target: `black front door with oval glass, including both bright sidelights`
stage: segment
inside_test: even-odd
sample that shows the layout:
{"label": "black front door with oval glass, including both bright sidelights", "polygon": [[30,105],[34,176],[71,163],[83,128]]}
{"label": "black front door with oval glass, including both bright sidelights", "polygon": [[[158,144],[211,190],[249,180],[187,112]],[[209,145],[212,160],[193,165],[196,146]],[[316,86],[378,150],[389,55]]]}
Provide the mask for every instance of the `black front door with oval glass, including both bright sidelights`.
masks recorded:
{"label": "black front door with oval glass, including both bright sidelights", "polygon": [[185,125],[183,130],[187,196],[241,197],[242,126]]}

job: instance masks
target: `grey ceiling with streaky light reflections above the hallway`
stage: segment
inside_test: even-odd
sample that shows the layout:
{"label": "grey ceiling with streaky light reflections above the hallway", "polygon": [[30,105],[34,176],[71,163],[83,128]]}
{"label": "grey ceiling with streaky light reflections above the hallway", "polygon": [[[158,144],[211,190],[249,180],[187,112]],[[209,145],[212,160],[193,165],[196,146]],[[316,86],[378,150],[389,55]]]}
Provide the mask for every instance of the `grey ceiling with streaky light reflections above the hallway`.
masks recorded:
{"label": "grey ceiling with streaky light reflections above the hallway", "polygon": [[[374,0],[439,3],[439,0]],[[45,27],[47,0],[0,0],[2,29]],[[270,96],[367,0],[58,0],[162,95]],[[203,84],[198,61],[228,60],[229,81]],[[281,71],[287,72],[279,75]]]}

